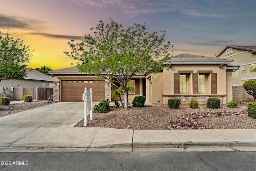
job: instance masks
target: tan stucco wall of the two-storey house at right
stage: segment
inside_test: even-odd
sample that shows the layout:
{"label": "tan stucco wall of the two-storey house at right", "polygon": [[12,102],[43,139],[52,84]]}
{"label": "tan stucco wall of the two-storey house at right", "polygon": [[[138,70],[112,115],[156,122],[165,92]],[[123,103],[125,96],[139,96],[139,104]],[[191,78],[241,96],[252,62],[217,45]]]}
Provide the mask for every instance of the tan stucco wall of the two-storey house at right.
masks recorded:
{"label": "tan stucco wall of the two-storey house at right", "polygon": [[[242,53],[245,52],[245,53]],[[241,54],[242,53],[242,54]],[[246,65],[246,73],[242,74],[242,67],[238,70],[238,76],[232,74],[232,85],[238,84],[242,85],[242,80],[256,79],[256,72],[250,73],[250,63],[256,62],[256,54],[251,54],[252,52],[246,52],[245,50],[238,50],[232,48],[232,54],[226,55],[226,50],[220,54],[219,58],[226,58],[228,60],[234,60],[232,65],[244,66]]]}

